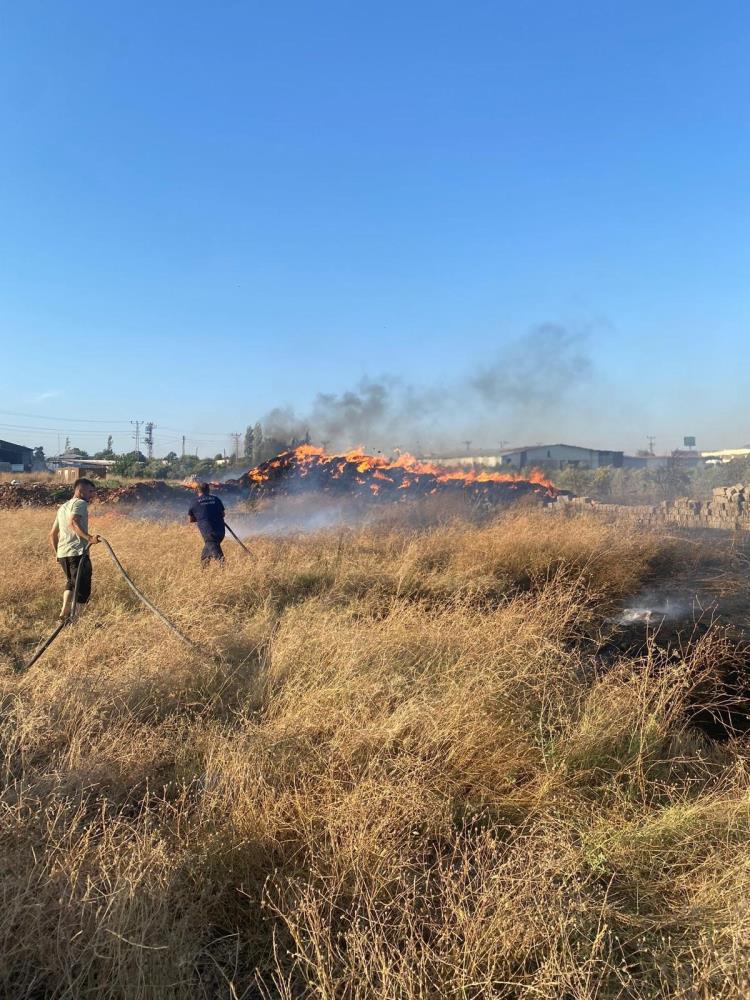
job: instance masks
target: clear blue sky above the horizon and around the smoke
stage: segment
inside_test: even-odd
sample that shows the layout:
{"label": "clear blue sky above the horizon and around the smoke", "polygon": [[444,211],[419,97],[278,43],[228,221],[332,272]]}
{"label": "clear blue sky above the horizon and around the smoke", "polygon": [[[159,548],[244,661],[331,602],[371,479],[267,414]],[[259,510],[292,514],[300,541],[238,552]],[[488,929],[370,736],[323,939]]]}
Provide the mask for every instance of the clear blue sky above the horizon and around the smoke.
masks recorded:
{"label": "clear blue sky above the horizon and around the smoke", "polygon": [[[747,443],[749,29],[740,3],[0,5],[0,437],[125,449],[150,419],[208,454],[385,376],[444,392],[412,447]],[[540,324],[585,376],[479,405]]]}

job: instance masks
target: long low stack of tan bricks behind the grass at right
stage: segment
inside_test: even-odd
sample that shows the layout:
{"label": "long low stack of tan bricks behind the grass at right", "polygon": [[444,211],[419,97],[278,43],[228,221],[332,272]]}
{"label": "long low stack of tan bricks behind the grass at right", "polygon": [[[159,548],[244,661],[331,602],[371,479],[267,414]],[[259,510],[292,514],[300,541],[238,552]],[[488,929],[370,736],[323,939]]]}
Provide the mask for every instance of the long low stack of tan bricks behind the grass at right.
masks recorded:
{"label": "long low stack of tan bricks behind the grass at right", "polygon": [[645,527],[675,524],[683,528],[719,528],[724,531],[750,531],[750,484],[719,486],[711,500],[679,497],[655,506],[599,503],[590,497],[559,496],[549,505],[554,513],[590,511],[612,520],[628,520]]}

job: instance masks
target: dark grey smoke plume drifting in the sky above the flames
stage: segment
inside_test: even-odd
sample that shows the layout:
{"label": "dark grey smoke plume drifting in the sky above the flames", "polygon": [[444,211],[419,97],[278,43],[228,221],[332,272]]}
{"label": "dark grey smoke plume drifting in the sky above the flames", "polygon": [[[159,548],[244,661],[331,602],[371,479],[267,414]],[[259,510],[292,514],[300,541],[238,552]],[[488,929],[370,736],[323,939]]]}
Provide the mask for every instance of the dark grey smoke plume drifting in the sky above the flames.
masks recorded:
{"label": "dark grey smoke plume drifting in the sky above the flames", "polygon": [[491,447],[500,437],[557,433],[561,409],[593,372],[588,335],[544,323],[447,384],[363,378],[354,389],[319,393],[306,415],[277,407],[263,427],[279,439],[309,431],[313,441],[338,449],[445,450],[466,438]]}

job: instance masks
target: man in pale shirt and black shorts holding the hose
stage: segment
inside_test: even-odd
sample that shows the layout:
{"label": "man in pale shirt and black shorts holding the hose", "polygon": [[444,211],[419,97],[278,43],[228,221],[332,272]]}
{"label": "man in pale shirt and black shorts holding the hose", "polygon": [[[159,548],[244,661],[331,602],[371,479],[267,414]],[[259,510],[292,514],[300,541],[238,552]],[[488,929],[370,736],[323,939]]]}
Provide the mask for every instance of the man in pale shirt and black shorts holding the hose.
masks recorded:
{"label": "man in pale shirt and black shorts holding the hose", "polygon": [[50,545],[65,573],[60,621],[67,621],[70,617],[76,579],[76,604],[85,604],[91,596],[91,559],[88,546],[99,541],[98,535],[89,534],[89,502],[95,496],[96,487],[90,479],[76,479],[73,483],[73,496],[58,508],[55,523],[49,533]]}

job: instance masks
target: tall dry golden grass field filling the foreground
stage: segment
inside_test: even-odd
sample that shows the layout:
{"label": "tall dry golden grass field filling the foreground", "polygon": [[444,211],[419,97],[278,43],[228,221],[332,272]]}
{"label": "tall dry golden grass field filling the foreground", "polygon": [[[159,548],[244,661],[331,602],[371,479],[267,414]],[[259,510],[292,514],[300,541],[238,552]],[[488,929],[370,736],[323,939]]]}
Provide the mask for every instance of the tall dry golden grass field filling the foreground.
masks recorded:
{"label": "tall dry golden grass field filling the foreground", "polygon": [[[100,516],[97,517],[97,514]],[[722,1000],[750,992],[750,753],[683,706],[726,639],[605,669],[680,543],[520,513],[251,540],[0,511],[0,995]]]}

